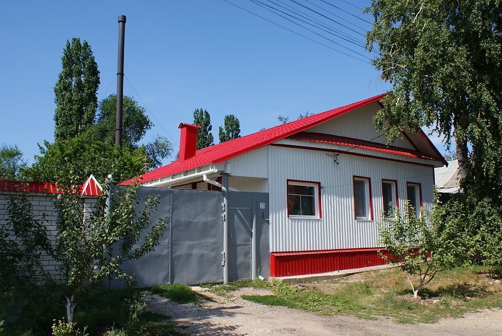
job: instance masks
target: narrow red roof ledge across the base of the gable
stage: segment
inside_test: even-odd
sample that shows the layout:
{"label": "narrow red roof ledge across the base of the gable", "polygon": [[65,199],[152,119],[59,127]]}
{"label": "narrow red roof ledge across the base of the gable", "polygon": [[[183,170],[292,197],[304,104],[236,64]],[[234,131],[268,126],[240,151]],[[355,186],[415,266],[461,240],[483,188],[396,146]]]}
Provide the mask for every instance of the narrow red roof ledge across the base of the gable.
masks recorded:
{"label": "narrow red roof ledge across the base of the gable", "polygon": [[368,149],[371,151],[407,156],[410,158],[435,160],[433,158],[423,156],[422,154],[420,154],[420,152],[417,152],[417,151],[414,151],[411,149],[405,149],[405,148],[395,147],[395,146],[386,146],[384,144],[380,144],[380,143],[376,143],[376,142],[348,138],[348,137],[335,136],[335,135],[331,135],[331,134],[300,132],[300,133],[294,134],[292,136],[289,136],[288,139],[300,140],[300,141],[310,141],[310,142],[317,142],[317,143],[324,143],[324,144],[333,144],[333,145],[338,145],[338,146],[348,146],[348,147],[352,147],[352,148],[354,148],[354,147],[355,148],[363,148],[363,149]]}

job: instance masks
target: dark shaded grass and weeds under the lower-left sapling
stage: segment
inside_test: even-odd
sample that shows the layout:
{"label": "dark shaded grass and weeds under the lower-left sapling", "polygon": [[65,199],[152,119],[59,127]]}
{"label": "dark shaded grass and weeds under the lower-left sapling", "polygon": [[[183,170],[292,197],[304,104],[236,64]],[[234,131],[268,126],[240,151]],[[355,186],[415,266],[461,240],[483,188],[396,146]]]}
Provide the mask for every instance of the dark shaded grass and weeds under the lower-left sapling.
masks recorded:
{"label": "dark shaded grass and weeds under the lower-left sapling", "polygon": [[[181,335],[175,329],[175,322],[169,320],[169,316],[144,310],[142,295],[136,289],[108,291],[100,286],[92,288],[80,302],[72,325],[65,322],[64,307],[47,300],[48,296],[53,295],[49,288],[34,290],[37,291],[34,294],[38,299],[30,300],[28,305],[20,303],[20,306],[23,305],[21,318],[18,318],[15,324],[0,323],[1,336]],[[12,309],[12,302],[2,300],[0,310],[6,312],[6,309]]]}

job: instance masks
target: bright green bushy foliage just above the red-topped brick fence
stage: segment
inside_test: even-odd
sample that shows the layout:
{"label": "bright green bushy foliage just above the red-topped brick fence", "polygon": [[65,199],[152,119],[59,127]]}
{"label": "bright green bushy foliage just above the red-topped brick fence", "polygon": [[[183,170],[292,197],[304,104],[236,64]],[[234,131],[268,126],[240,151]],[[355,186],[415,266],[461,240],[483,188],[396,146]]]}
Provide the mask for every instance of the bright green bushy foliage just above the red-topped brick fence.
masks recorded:
{"label": "bright green bushy foliage just above the red-topped brick fence", "polygon": [[79,176],[76,183],[83,183],[93,174],[103,183],[108,174],[123,181],[144,172],[145,147],[131,150],[107,142],[88,141],[86,134],[68,140],[44,142],[40,155],[35,156],[31,167],[26,167],[20,176],[31,181],[68,182]]}

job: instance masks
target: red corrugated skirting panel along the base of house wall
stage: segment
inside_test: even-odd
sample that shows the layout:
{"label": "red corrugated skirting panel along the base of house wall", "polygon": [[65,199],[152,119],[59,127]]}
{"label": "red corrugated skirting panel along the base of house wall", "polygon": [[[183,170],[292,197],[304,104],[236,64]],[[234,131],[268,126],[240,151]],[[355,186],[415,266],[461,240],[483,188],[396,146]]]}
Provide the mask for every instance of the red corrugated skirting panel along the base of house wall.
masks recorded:
{"label": "red corrugated skirting panel along the base of house wall", "polygon": [[282,277],[385,265],[378,251],[390,256],[382,248],[272,252],[270,275]]}

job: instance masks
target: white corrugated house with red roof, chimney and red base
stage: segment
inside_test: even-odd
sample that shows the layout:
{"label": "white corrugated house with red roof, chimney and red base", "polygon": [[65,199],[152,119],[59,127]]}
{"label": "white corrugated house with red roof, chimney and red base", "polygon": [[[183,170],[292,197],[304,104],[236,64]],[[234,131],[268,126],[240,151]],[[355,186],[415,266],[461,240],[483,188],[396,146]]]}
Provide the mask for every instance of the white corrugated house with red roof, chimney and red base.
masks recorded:
{"label": "white corrugated house with red roof, chimney and red base", "polygon": [[421,130],[386,146],[372,123],[384,96],[198,151],[198,127],[180,123],[179,159],[141,184],[220,190],[228,174],[229,188],[268,192],[271,276],[381,265],[382,214],[406,200],[430,210],[434,168],[447,165]]}

